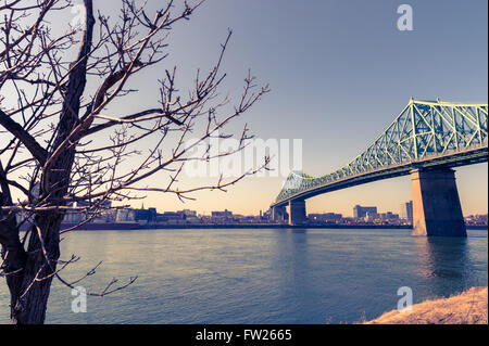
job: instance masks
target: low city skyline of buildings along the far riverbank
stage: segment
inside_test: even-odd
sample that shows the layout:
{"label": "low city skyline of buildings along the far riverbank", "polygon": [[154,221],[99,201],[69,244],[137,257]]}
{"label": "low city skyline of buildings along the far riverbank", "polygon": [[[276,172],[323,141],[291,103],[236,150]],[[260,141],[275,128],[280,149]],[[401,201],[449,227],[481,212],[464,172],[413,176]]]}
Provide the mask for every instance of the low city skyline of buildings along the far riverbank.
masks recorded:
{"label": "low city skyline of buildings along the far riverbank", "polygon": [[[100,201],[95,201],[99,203]],[[85,203],[82,203],[84,206]],[[199,214],[197,210],[158,210],[154,207],[127,208],[113,207],[111,202],[102,202],[103,210],[97,214],[86,214],[77,210],[68,210],[63,219],[64,228],[72,228],[74,225],[83,223],[82,229],[151,229],[172,228],[187,226],[189,228],[202,227],[401,227],[412,228],[414,214],[413,201],[408,201],[400,206],[399,212],[379,210],[377,206],[353,207],[353,216],[337,213],[309,213],[301,225],[290,225],[290,215],[286,212],[283,218],[274,216],[273,210],[260,210],[259,215],[240,215],[233,210],[212,210],[209,214]],[[78,204],[76,204],[78,207]],[[28,218],[27,214],[21,213],[17,222]],[[464,217],[466,226],[487,227],[488,215],[468,215]]]}

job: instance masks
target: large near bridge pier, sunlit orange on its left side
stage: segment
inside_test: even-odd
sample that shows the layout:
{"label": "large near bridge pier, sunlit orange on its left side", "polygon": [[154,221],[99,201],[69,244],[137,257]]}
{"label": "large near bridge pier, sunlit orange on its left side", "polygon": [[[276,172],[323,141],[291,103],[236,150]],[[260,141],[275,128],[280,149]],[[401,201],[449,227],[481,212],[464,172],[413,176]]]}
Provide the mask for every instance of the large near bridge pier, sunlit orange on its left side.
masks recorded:
{"label": "large near bridge pier, sunlit orange on its left side", "polygon": [[453,169],[411,172],[413,235],[467,236]]}

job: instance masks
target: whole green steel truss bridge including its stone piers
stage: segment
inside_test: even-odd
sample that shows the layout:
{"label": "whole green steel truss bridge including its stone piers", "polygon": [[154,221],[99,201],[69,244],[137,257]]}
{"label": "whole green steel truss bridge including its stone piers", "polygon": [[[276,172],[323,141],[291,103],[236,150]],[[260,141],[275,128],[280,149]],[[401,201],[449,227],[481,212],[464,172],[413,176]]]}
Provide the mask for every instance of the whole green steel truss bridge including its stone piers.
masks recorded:
{"label": "whole green steel truss bridge including its stone piers", "polygon": [[289,175],[273,218],[302,225],[305,200],[336,190],[411,175],[413,234],[466,236],[453,168],[488,161],[488,105],[411,99],[392,124],[336,171]]}

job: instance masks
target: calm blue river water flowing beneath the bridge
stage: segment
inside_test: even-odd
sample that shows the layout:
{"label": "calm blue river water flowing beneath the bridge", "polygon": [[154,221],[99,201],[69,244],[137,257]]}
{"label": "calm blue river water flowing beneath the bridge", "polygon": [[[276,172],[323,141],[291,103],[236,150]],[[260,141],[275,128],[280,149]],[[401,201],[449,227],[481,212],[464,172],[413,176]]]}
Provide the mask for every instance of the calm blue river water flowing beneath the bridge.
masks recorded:
{"label": "calm blue river water flowing beneath the bridge", "polygon": [[[71,311],[71,290],[54,282],[48,323],[340,323],[394,309],[401,286],[414,303],[487,285],[487,231],[468,239],[414,238],[406,230],[137,230],[67,234],[62,275],[101,292]],[[0,279],[0,323],[9,323]]]}

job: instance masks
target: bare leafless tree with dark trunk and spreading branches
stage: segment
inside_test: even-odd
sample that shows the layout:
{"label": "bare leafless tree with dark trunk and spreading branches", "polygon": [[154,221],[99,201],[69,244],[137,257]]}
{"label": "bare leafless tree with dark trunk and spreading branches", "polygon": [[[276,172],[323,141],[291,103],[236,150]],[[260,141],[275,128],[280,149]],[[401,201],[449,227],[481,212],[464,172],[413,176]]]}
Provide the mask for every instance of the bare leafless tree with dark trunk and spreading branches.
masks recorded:
{"label": "bare leafless tree with dark trunk and spreading branches", "polygon": [[[118,16],[112,18],[96,13],[92,0],[84,0],[83,28],[70,26],[57,33],[49,18],[70,10],[70,0],[0,1],[1,273],[11,294],[13,323],[45,321],[54,278],[68,286],[77,282],[60,275],[76,260],[74,256],[60,259],[61,222],[67,210],[93,216],[106,201],[122,203],[146,191],[191,198],[189,193],[224,190],[266,168],[267,158],[263,166],[230,180],[178,187],[186,163],[242,150],[251,138],[246,126],[235,134],[237,150],[189,154],[193,145],[213,136],[231,136],[224,133],[224,127],[268,91],[248,75],[234,104],[218,94],[230,31],[216,52],[215,65],[197,72],[191,90],[177,89],[176,68],[161,68],[161,78],[154,80],[160,86],[154,104],[131,114],[111,111],[115,100],[137,93],[129,86],[134,75],[165,61],[173,26],[189,20],[201,4],[170,0],[148,13],[146,2],[121,0]],[[186,145],[189,136],[198,138],[192,145]],[[152,148],[141,150],[141,141]],[[146,184],[162,172],[168,177],[166,185]],[[15,194],[24,197],[14,201]],[[23,226],[25,233],[20,231]],[[114,283],[99,294],[127,285]]]}

